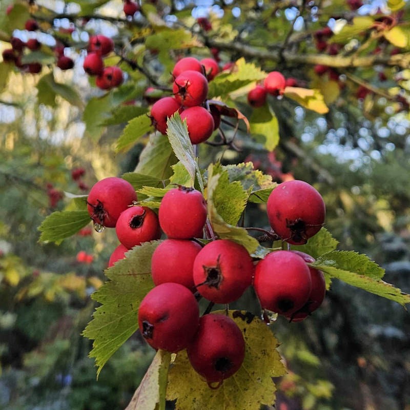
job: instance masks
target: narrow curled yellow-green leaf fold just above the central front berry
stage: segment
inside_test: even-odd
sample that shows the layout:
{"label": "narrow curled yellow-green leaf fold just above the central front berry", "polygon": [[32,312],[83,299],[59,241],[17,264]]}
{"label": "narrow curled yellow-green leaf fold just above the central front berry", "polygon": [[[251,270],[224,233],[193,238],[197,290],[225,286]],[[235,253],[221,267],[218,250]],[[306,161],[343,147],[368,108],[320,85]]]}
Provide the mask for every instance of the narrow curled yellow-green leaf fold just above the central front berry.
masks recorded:
{"label": "narrow curled yellow-green leaf fold just above the central front berry", "polygon": [[253,253],[258,247],[259,242],[248,234],[248,232],[240,227],[235,227],[226,221],[218,214],[218,210],[214,203],[214,193],[217,190],[219,178],[221,174],[212,175],[213,165],[208,168],[208,217],[212,225],[212,229],[221,239],[230,239],[243,245],[249,253]]}

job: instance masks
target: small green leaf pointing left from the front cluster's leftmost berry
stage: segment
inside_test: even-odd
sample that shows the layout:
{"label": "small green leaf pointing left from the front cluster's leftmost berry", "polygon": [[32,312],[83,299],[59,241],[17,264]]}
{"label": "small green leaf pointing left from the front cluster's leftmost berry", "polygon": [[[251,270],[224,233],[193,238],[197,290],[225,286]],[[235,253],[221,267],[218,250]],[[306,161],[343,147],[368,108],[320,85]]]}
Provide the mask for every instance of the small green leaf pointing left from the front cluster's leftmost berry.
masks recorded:
{"label": "small green leaf pointing left from the front cluster's leftmost berry", "polygon": [[90,223],[90,214],[87,210],[53,212],[38,227],[42,233],[39,240],[56,242],[68,238],[88,223]]}

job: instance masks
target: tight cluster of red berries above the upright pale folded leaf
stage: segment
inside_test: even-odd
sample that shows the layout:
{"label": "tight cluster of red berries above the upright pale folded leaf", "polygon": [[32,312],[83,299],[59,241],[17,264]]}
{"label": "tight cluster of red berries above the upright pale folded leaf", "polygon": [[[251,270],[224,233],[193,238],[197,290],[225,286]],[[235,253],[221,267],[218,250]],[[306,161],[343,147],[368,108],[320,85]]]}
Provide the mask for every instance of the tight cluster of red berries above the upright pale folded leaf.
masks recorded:
{"label": "tight cluster of red berries above the upright pale folded leaf", "polygon": [[218,72],[218,63],[213,58],[181,58],[172,71],[174,96],[160,98],[152,105],[151,120],[155,129],[165,135],[168,117],[179,112],[181,119],[187,121],[192,144],[206,141],[220,124],[216,106],[205,108],[208,81]]}

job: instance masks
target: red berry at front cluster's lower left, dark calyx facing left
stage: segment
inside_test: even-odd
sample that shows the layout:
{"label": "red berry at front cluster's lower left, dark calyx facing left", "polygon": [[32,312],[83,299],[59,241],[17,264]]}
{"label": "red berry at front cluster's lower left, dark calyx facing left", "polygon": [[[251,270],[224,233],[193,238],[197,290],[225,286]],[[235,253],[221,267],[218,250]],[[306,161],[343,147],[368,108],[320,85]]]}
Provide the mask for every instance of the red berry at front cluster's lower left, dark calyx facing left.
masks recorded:
{"label": "red berry at front cluster's lower left, dark calyx facing left", "polygon": [[142,299],[138,325],[148,344],[179,352],[192,341],[199,324],[199,308],[193,293],[179,283],[161,283]]}

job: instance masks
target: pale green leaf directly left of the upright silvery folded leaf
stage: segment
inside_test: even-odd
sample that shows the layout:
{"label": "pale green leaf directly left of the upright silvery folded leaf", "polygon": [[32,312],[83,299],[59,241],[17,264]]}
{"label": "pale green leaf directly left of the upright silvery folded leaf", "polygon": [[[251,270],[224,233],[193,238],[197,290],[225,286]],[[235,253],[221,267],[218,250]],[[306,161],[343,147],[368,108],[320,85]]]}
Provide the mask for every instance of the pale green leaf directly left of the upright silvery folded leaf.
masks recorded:
{"label": "pale green leaf directly left of the upright silvery folded leaf", "polygon": [[165,180],[172,175],[171,166],[177,162],[168,138],[152,134],[147,146],[139,156],[135,172]]}

